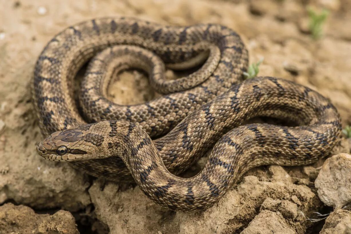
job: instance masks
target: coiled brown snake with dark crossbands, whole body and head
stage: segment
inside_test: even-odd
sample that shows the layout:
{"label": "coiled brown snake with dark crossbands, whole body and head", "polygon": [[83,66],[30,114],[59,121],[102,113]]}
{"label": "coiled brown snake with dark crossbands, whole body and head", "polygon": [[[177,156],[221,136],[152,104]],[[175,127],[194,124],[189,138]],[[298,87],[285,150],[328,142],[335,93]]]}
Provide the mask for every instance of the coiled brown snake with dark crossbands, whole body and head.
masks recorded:
{"label": "coiled brown snake with dark crossbands, whole body and head", "polygon": [[[76,100],[74,78],[88,61]],[[307,165],[329,155],[341,134],[329,99],[289,80],[245,80],[248,61],[240,36],[218,24],[106,17],[70,26],[35,65],[33,102],[46,137],[37,152],[95,177],[134,180],[152,201],[181,212],[213,206],[250,168]],[[112,102],[113,77],[133,68],[163,95]],[[190,74],[169,80],[166,68]],[[260,116],[294,125],[247,123]],[[197,175],[179,176],[205,154]]]}

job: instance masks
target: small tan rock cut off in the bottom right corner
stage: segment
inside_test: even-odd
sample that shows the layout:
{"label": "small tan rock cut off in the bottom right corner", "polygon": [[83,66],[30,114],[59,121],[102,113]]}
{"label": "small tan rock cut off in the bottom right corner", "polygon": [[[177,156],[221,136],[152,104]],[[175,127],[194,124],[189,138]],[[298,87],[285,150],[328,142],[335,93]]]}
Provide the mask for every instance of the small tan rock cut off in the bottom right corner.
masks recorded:
{"label": "small tan rock cut off in the bottom right corner", "polygon": [[320,234],[348,234],[351,233],[351,211],[337,209],[330,213],[325,220]]}

